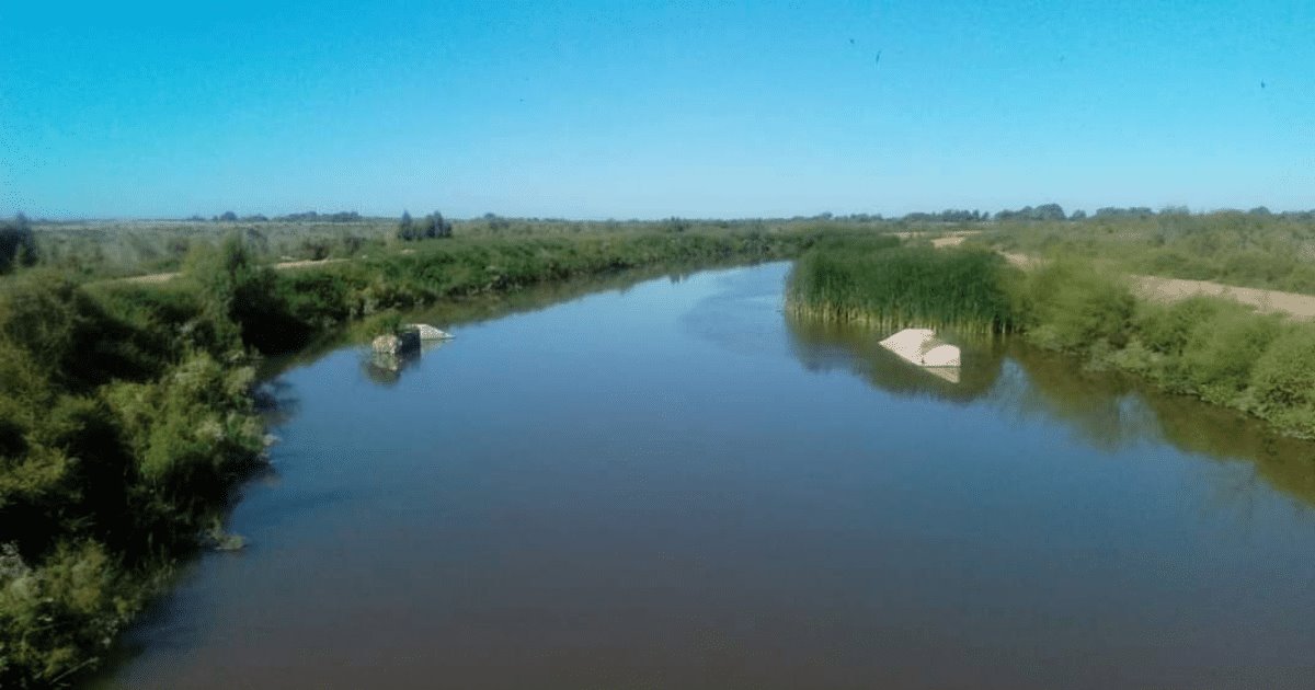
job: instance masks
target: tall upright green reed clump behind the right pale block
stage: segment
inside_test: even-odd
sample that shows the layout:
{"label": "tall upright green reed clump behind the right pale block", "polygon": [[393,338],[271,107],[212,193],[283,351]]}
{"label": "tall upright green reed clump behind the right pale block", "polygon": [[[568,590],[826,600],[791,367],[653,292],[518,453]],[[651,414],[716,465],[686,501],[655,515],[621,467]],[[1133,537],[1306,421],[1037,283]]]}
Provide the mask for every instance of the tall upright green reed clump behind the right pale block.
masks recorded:
{"label": "tall upright green reed clump behind the right pale block", "polygon": [[798,260],[788,305],[810,318],[892,330],[1007,333],[1014,329],[1010,271],[990,251],[906,247],[882,237],[835,238]]}

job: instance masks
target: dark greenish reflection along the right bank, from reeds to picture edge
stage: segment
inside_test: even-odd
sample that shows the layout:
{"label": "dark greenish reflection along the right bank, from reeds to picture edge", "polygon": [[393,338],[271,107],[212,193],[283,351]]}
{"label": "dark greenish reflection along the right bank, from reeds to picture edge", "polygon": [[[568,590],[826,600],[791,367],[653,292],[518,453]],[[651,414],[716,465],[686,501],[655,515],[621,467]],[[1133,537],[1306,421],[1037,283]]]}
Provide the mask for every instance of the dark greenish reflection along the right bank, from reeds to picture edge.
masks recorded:
{"label": "dark greenish reflection along the right bank, from reeds to picture edge", "polygon": [[[1084,371],[1072,356],[1018,339],[947,339],[963,348],[960,382],[913,367],[864,326],[786,315],[796,357],[809,371],[847,371],[897,396],[980,402],[1019,421],[1059,419],[1093,447],[1118,451],[1164,442],[1218,461],[1247,461],[1251,480],[1315,505],[1315,443],[1281,436],[1257,419],[1170,396],[1116,372]],[[1255,484],[1255,481],[1252,481]],[[1230,490],[1244,492],[1243,485]]]}

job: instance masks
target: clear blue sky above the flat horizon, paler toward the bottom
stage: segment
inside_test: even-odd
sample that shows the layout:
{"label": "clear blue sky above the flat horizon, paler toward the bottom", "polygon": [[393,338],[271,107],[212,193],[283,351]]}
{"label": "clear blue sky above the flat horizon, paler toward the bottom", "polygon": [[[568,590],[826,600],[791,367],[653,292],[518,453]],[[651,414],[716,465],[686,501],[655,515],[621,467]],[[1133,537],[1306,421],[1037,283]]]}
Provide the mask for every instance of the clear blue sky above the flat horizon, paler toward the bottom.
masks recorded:
{"label": "clear blue sky above the flat horizon, paler toward the bottom", "polygon": [[1312,30],[1311,0],[0,0],[0,214],[1310,209]]}

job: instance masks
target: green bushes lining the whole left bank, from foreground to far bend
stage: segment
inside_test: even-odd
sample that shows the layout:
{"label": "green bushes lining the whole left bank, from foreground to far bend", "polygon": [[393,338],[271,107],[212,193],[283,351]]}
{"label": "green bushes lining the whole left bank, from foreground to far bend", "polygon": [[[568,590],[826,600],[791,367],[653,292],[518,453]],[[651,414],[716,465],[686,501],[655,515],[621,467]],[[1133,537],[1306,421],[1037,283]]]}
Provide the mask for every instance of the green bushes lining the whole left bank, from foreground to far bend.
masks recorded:
{"label": "green bushes lining the whole left bank, from foreground to far bend", "polygon": [[[437,221],[437,218],[434,218]],[[250,234],[162,284],[53,268],[0,280],[0,686],[67,685],[199,545],[262,463],[254,363],[393,309],[660,264],[798,255],[813,233],[455,237],[274,271]]]}

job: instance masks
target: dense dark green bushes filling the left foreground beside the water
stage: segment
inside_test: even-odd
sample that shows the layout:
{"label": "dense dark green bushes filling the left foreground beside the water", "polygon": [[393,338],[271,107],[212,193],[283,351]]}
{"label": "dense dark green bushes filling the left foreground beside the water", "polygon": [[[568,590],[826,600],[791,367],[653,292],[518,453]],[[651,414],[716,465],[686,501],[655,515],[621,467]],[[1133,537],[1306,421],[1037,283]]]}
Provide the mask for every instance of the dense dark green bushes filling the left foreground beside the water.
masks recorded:
{"label": "dense dark green bushes filling the left foreground beside the water", "polygon": [[[0,283],[0,686],[63,685],[259,457],[252,372],[197,294]],[[229,331],[235,326],[229,323]]]}

